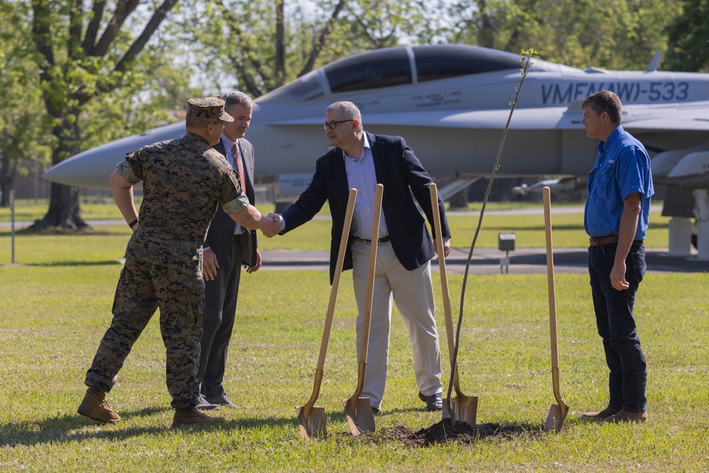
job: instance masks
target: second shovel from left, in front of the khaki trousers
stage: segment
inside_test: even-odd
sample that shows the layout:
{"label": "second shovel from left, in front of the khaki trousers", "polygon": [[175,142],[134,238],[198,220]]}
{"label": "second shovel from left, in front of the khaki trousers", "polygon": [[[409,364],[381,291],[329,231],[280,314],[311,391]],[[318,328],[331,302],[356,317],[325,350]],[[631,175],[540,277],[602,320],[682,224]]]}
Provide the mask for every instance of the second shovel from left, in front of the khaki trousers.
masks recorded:
{"label": "second shovel from left, in front of the khaki trousers", "polygon": [[364,389],[364,372],[367,369],[367,350],[369,350],[369,323],[372,321],[372,297],[374,295],[374,269],[376,269],[376,245],[379,243],[379,217],[381,216],[381,197],[384,186],[376,184],[374,195],[374,223],[372,224],[372,249],[369,251],[369,274],[367,275],[367,297],[364,299],[364,320],[362,321],[362,347],[359,348],[359,367],[357,369],[357,389],[350,399],[345,399],[345,415],[352,435],[362,432],[374,432],[374,414],[368,397],[359,397]]}

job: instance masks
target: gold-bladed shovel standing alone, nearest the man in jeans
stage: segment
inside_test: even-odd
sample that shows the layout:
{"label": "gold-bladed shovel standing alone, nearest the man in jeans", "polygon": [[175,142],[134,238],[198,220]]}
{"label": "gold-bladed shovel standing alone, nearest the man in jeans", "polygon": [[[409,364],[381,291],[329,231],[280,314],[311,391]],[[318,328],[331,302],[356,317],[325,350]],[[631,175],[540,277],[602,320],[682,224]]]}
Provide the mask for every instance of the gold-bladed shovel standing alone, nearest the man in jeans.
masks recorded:
{"label": "gold-bladed shovel standing alone, nearest the man in jeans", "polygon": [[561,432],[564,428],[566,414],[569,413],[569,406],[566,406],[562,395],[559,394],[559,352],[557,347],[557,296],[554,290],[554,255],[552,255],[552,215],[551,204],[549,202],[549,187],[542,189],[544,198],[544,226],[547,230],[547,286],[549,288],[549,336],[552,341],[552,386],[554,388],[554,399],[559,404],[553,404],[549,409],[547,421],[544,423],[544,431],[556,430]]}

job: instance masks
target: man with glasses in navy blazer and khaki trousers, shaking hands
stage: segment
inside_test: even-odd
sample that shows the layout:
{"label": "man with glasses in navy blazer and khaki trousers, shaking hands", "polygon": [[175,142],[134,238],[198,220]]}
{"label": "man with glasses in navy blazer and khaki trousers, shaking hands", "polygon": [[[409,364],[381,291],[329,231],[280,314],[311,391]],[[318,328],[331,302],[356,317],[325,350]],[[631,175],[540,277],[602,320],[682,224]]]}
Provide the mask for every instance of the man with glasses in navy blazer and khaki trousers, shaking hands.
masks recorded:
{"label": "man with glasses in navy blazer and khaki trousers, shaking hands", "polygon": [[[369,272],[369,250],[374,220],[374,189],[384,185],[379,225],[372,322],[367,371],[362,397],[369,397],[379,413],[389,359],[391,299],[408,328],[419,397],[429,411],[440,411],[441,357],[435,322],[430,260],[435,255],[430,235],[416,202],[428,221],[440,213],[445,256],[450,252],[450,229],[443,201],[432,208],[428,172],[401,137],[372,135],[362,129],[362,115],[352,102],[335,102],[325,115],[325,133],[333,149],[318,158],[308,189],[280,216],[281,234],[311,220],[327,200],[333,218],[330,247],[330,282],[333,281],[345,221],[348,189],[357,188],[357,202],[347,243],[344,269],[353,269],[357,299],[357,355],[362,339],[364,299]],[[415,197],[415,200],[414,200]],[[272,236],[264,233],[266,236]],[[437,238],[437,235],[434,235]]]}

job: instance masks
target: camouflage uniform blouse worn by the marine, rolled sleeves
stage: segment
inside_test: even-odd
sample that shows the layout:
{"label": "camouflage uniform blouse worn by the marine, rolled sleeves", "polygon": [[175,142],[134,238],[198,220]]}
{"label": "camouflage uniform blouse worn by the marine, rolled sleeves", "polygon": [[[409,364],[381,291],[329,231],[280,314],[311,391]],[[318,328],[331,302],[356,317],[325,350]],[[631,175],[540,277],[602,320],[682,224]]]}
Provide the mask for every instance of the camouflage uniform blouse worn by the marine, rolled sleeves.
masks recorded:
{"label": "camouflage uniform blouse worn by the marine, rolled sleeves", "polygon": [[125,257],[201,277],[202,243],[218,202],[227,213],[249,205],[238,174],[191,133],[129,152],[117,168],[130,184],[143,181],[140,225]]}

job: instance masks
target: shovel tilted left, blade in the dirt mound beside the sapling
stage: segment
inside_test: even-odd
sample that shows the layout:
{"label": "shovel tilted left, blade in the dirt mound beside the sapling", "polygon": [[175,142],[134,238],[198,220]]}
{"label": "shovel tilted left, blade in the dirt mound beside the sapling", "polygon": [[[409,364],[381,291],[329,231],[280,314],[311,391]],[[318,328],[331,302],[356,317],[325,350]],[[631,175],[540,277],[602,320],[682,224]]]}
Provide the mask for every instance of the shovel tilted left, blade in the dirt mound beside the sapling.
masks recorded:
{"label": "shovel tilted left, blade in the dirt mound beside the sapling", "polygon": [[[431,194],[431,208],[433,212],[433,225],[436,233],[436,251],[438,252],[438,269],[440,272],[441,279],[441,294],[443,297],[443,313],[445,314],[445,332],[448,339],[448,354],[450,356],[451,362],[453,360],[453,350],[455,348],[455,342],[453,340],[453,318],[450,311],[450,296],[448,295],[448,277],[445,270],[445,256],[443,254],[443,238],[441,235],[441,218],[438,212],[438,192],[436,189],[436,184],[430,184],[428,187]],[[457,363],[456,363],[457,365]],[[451,367],[452,368],[452,367]],[[451,412],[448,408],[450,404],[451,409],[455,414],[455,421],[464,422],[468,425],[475,425],[477,413],[478,413],[478,398],[477,396],[466,396],[460,391],[460,385],[458,382],[458,367],[455,367],[455,374],[453,375],[453,389],[455,390],[455,397],[450,400],[443,399],[443,418],[451,418]]]}

